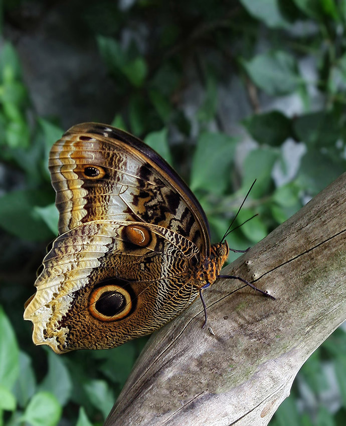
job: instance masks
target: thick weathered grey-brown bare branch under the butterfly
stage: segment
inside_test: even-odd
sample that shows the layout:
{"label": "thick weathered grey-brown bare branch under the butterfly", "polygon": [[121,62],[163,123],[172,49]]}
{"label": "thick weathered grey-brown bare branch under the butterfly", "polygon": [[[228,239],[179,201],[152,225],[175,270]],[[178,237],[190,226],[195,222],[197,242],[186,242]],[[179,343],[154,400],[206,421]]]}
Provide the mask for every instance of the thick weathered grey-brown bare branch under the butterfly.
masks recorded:
{"label": "thick weathered grey-brown bare branch under the butterfly", "polygon": [[346,319],[346,173],[149,339],[106,426],[263,426],[308,356]]}

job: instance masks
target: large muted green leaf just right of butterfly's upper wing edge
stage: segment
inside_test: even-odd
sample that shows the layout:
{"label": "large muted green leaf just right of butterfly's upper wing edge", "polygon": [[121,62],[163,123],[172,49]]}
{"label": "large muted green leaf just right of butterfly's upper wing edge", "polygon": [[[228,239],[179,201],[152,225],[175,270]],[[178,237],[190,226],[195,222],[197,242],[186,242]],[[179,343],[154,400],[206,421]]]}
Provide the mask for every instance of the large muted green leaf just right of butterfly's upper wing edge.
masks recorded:
{"label": "large muted green leaf just right of butterfly's upper wing edge", "polygon": [[202,133],[192,161],[190,187],[221,194],[229,184],[238,139],[223,133]]}

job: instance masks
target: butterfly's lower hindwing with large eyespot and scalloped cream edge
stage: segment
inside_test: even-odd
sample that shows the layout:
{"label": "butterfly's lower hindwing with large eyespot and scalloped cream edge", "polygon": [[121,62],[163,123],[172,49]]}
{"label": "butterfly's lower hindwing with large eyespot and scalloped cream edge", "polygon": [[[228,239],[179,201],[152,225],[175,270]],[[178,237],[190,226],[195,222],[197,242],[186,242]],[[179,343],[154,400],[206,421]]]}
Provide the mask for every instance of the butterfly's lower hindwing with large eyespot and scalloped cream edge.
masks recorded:
{"label": "butterfly's lower hindwing with large eyespot and scalloped cream edge", "polygon": [[157,225],[93,221],[59,236],[24,318],[57,352],[103,349],[148,334],[197,296],[194,243]]}

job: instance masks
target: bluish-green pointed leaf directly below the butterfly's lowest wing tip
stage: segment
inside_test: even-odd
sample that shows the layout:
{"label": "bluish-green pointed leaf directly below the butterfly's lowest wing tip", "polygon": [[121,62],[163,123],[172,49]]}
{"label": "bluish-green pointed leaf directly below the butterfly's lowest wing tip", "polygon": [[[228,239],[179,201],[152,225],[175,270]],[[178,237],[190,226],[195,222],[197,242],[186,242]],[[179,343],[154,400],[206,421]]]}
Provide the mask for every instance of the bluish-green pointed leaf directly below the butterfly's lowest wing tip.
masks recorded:
{"label": "bluish-green pointed leaf directly below the butterfly's lowest wing tip", "polygon": [[72,381],[63,358],[48,352],[48,374],[40,385],[40,390],[52,392],[60,405],[64,406],[71,397]]}

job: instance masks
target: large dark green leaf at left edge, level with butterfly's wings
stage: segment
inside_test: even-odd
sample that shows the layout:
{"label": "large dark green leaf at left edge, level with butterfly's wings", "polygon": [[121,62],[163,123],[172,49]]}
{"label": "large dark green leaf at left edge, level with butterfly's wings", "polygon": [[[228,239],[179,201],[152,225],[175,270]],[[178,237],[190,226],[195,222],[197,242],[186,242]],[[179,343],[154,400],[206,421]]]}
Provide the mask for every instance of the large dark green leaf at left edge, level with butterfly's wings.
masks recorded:
{"label": "large dark green leaf at left edge, level with butterfly's wings", "polygon": [[[51,194],[49,194],[51,197]],[[48,194],[36,189],[13,191],[0,197],[0,227],[30,241],[45,241],[52,238],[35,206],[46,205]]]}

